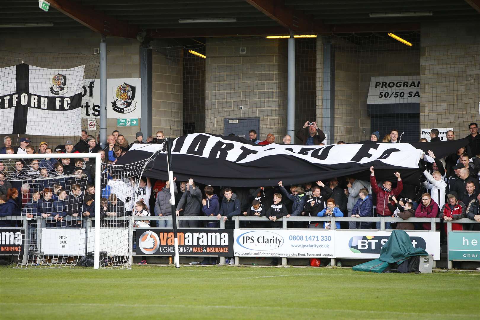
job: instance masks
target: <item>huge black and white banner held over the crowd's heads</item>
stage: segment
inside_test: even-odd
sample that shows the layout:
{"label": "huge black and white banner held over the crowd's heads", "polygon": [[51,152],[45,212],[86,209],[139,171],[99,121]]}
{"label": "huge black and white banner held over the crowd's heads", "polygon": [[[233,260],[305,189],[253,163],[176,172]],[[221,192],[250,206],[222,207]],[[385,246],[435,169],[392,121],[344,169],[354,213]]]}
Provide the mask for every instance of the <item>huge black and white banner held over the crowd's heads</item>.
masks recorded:
{"label": "huge black and white banner held over the crowd's heads", "polygon": [[[438,144],[441,143],[442,145]],[[285,185],[328,178],[355,176],[368,179],[370,166],[377,178],[394,178],[399,171],[404,180],[418,182],[419,160],[423,151],[433,150],[442,157],[454,153],[465,139],[453,142],[375,143],[357,142],[326,146],[259,146],[240,137],[195,133],[174,140],[172,166],[178,180],[215,186],[258,187]],[[117,164],[149,158],[162,149],[161,144],[133,144]],[[166,154],[159,154],[147,165],[145,175],[166,179]]]}

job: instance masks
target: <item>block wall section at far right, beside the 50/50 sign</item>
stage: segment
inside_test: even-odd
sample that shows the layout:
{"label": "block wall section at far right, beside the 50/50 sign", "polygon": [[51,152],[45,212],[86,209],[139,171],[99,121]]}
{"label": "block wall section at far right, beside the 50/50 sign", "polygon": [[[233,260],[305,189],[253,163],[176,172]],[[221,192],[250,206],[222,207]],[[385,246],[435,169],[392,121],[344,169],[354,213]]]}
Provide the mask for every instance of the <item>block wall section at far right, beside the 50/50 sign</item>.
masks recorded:
{"label": "block wall section at far right, beside the 50/50 sign", "polygon": [[479,30],[479,21],[422,24],[421,128],[454,128],[459,139],[479,122]]}

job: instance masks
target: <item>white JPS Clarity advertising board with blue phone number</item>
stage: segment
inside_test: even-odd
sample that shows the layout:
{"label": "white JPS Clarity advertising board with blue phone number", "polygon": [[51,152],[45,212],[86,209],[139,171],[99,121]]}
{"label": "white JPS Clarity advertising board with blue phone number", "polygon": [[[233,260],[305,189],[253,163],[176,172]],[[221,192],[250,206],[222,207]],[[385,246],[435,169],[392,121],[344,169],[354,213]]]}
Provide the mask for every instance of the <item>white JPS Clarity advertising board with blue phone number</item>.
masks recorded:
{"label": "white JPS Clarity advertising board with blue phone number", "polygon": [[236,257],[333,258],[334,232],[235,229]]}

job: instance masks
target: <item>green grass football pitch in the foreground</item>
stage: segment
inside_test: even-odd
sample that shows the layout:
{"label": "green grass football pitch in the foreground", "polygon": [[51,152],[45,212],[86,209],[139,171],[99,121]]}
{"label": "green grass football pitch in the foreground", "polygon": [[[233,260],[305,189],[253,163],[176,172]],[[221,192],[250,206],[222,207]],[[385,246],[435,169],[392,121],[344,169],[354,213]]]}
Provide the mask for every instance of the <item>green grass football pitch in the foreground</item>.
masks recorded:
{"label": "green grass football pitch in the foreground", "polygon": [[0,319],[479,319],[480,273],[0,268]]}

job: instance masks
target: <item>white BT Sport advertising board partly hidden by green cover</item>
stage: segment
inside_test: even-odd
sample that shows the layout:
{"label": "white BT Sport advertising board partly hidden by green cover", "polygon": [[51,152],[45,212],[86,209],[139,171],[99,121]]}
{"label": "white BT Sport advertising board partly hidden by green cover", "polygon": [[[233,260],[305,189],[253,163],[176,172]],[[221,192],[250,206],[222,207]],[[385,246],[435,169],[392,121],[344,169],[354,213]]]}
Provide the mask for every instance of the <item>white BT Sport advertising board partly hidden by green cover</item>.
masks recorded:
{"label": "white BT Sport advertising board partly hidden by green cover", "polygon": [[[335,258],[370,259],[380,256],[380,249],[390,238],[388,231],[334,231]],[[413,247],[425,249],[440,260],[440,232],[407,232]]]}

